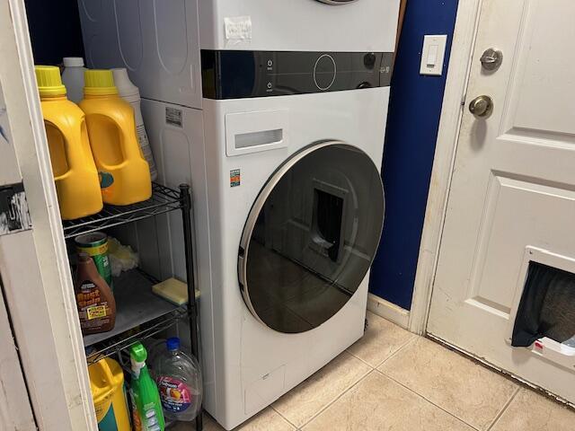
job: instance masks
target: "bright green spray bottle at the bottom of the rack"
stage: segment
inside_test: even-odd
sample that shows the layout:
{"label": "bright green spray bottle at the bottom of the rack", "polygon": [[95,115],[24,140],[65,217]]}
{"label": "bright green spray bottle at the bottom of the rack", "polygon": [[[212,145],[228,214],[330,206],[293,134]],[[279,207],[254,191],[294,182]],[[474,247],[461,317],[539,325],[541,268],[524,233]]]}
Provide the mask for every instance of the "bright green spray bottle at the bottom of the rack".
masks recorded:
{"label": "bright green spray bottle at the bottom of the rack", "polygon": [[134,431],[164,431],[164,410],[158,388],[147,370],[146,348],[142,343],[136,343],[129,347],[129,357],[132,364],[130,398]]}

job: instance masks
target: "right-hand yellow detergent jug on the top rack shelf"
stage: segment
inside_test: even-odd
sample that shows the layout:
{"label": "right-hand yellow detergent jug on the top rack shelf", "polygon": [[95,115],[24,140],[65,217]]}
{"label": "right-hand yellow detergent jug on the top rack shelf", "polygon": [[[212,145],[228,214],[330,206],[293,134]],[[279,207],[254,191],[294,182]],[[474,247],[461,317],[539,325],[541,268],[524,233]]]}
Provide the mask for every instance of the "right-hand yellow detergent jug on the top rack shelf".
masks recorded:
{"label": "right-hand yellow detergent jug on the top rack shelf", "polygon": [[150,198],[150,169],[137,141],[134,110],[119,98],[111,70],[85,71],[80,108],[86,114],[103,201],[129,205]]}

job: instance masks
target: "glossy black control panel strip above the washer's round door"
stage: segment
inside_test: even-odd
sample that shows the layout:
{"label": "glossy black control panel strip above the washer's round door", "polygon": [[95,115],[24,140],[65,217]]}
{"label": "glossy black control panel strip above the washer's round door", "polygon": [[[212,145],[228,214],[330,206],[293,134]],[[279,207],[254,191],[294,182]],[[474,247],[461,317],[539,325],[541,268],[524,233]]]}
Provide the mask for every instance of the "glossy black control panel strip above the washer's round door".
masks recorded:
{"label": "glossy black control panel strip above the washer's round door", "polygon": [[390,84],[392,52],[201,51],[203,97],[241,99]]}

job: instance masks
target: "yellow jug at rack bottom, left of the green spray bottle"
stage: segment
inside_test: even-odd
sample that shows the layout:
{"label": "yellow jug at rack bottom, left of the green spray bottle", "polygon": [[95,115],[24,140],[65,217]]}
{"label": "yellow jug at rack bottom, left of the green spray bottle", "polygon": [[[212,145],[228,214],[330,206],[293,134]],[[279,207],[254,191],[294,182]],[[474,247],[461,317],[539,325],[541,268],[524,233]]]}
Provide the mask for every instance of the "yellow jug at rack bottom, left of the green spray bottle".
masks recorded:
{"label": "yellow jug at rack bottom, left of the green spray bottle", "polygon": [[88,366],[90,389],[100,431],[130,431],[124,373],[106,357]]}

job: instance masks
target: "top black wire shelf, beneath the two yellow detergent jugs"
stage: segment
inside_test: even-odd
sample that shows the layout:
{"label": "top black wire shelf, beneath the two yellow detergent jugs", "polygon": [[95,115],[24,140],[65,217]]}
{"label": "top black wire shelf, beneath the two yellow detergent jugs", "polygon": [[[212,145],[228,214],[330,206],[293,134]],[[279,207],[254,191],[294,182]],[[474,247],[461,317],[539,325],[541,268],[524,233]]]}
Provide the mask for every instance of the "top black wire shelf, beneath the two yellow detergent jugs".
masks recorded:
{"label": "top black wire shelf, beneath the two yellow detergent jugs", "polygon": [[122,207],[105,205],[102,211],[93,216],[63,221],[64,237],[67,240],[83,233],[92,233],[119,224],[137,222],[180,209],[183,206],[180,190],[170,189],[153,182],[152,198],[143,202]]}

